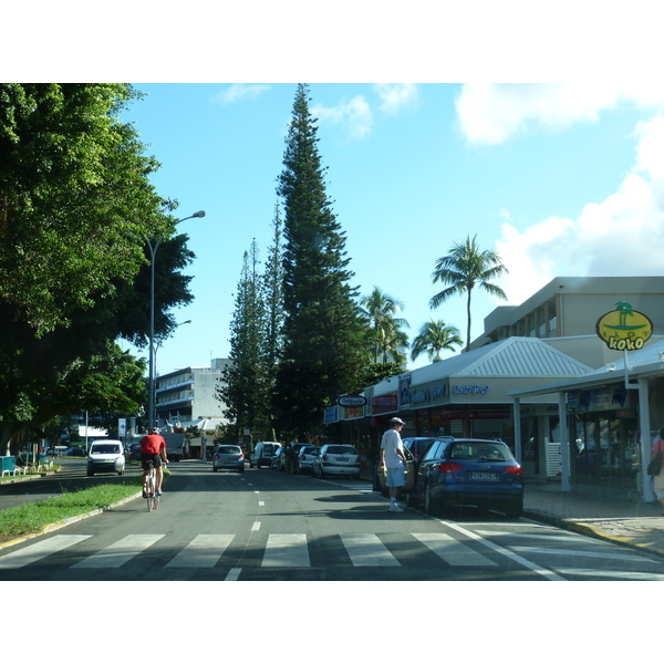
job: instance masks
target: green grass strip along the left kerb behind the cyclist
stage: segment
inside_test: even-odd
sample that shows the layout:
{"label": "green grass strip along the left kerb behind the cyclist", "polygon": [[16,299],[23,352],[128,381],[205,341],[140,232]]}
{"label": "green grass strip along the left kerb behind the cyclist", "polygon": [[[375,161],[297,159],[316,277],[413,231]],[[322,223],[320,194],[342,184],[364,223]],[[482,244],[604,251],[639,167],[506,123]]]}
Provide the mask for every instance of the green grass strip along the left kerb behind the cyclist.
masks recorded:
{"label": "green grass strip along the left kerb behind the cyclist", "polygon": [[132,477],[120,483],[101,484],[80,491],[0,510],[0,536],[23,536],[40,532],[50,523],[103,509],[141,490],[143,478]]}

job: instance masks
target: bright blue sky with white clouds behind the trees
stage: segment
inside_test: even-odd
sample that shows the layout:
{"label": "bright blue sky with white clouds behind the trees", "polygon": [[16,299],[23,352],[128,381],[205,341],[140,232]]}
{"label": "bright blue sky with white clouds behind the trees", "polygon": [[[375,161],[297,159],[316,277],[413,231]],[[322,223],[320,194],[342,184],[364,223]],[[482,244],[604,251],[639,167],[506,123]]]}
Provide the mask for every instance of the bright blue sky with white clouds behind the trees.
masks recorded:
{"label": "bright blue sky with white clouds behind the trees", "polygon": [[[154,184],[181,217],[206,210],[178,227],[196,301],[157,371],[206,366],[229,352],[243,252],[271,242],[297,85],[135,86],[146,97],[127,120],[163,164]],[[429,319],[465,338],[465,298],[428,302],[436,259],[468,236],[501,256],[510,304],[558,276],[661,272],[663,84],[314,83],[310,96],[353,283],[402,301],[411,339]],[[500,303],[475,292],[473,338]]]}

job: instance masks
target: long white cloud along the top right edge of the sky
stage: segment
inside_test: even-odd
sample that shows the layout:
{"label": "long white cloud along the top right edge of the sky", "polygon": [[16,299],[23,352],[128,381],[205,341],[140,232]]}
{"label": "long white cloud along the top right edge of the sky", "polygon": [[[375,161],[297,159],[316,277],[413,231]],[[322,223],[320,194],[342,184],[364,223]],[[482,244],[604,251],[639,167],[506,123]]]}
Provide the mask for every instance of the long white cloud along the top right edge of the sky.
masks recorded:
{"label": "long white cloud along the top right edge of the sky", "polygon": [[664,86],[596,82],[552,84],[467,84],[455,101],[463,134],[474,144],[498,144],[540,125],[563,128],[594,122],[601,111],[620,103],[655,107]]}

